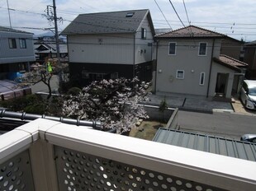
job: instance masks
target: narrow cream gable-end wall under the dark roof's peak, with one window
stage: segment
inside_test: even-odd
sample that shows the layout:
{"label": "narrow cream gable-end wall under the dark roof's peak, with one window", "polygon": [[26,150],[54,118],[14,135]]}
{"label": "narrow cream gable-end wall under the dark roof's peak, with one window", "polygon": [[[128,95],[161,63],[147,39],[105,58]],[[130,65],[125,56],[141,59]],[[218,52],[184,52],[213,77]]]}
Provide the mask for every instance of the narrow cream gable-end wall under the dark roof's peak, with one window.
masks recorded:
{"label": "narrow cream gable-end wall under the dark roof's peak, with one window", "polygon": [[[142,28],[146,29],[146,39],[141,39]],[[149,20],[145,17],[145,19],[141,21],[141,25],[135,35],[135,63],[145,63],[152,60],[153,42]]]}

